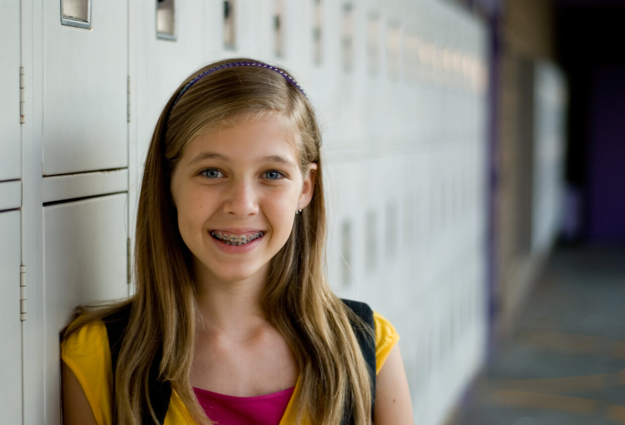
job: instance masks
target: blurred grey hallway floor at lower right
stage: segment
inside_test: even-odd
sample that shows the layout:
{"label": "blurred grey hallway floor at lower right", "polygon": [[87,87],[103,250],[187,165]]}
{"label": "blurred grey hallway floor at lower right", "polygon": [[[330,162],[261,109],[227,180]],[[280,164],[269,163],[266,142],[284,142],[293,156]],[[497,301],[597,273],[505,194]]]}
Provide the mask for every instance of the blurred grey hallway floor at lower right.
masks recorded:
{"label": "blurred grey hallway floor at lower right", "polygon": [[558,248],[454,425],[625,424],[625,250]]}

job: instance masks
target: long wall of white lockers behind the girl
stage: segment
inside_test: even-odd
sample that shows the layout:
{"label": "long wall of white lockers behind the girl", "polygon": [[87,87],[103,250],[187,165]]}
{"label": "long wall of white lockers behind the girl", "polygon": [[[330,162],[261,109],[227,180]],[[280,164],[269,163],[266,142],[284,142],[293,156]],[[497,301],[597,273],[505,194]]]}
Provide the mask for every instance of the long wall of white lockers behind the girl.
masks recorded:
{"label": "long wall of white lockers behind the girl", "polygon": [[[454,4],[434,0],[352,1],[350,7],[329,0],[232,1],[234,23],[227,22],[218,0],[118,0],[93,1],[89,26],[76,27],[61,22],[67,1],[5,3],[0,314],[8,348],[1,351],[6,384],[0,410],[7,423],[59,423],[58,331],[78,303],[128,295],[138,182],[154,122],[184,76],[227,56],[278,62],[294,71],[310,95],[326,130],[326,164],[336,195],[329,205],[330,227],[339,233],[351,229],[351,280],[341,262],[347,245],[331,237],[332,285],[370,301],[396,324],[415,397],[435,394],[419,378],[423,367],[431,371],[427,376],[437,377],[437,388],[450,389],[447,398],[422,405],[416,414],[436,423],[436,412],[452,403],[451,389],[466,382],[480,358],[480,307],[469,303],[479,297],[483,261],[479,197],[486,59],[480,22]],[[175,7],[174,37],[157,35],[159,3]],[[280,54],[272,43],[278,3],[284,22]],[[232,50],[224,49],[228,25],[236,40]],[[377,37],[371,36],[372,27]],[[318,57],[314,34],[321,34]],[[344,66],[346,46],[351,46],[350,69]],[[370,63],[372,51],[377,67]],[[469,160],[461,164],[462,157]],[[447,173],[444,164],[461,166]],[[395,176],[392,188],[371,178],[382,169]],[[362,181],[353,182],[354,176]],[[425,180],[419,185],[414,178]],[[353,198],[354,187],[368,189]],[[341,201],[346,199],[353,202]],[[403,228],[409,215],[414,215],[412,230]],[[393,217],[396,227],[388,224]],[[379,240],[369,236],[368,249],[366,230],[359,232],[367,226],[379,235]],[[382,241],[389,229],[402,238],[404,231],[414,232],[414,245],[387,248]],[[427,240],[438,254],[419,271]],[[447,249],[452,247],[462,251]],[[419,252],[414,261],[411,255]],[[467,252],[472,255],[457,265],[454,258]],[[367,255],[376,258],[374,268],[367,266]],[[463,296],[453,304],[464,313],[441,301],[452,293],[441,277],[449,266],[471,271],[458,292]],[[386,281],[392,281],[387,286],[392,290],[384,291]],[[416,299],[423,306],[437,299],[440,308],[423,313],[429,320],[422,322]],[[455,331],[446,345],[422,336],[437,335],[439,327],[449,328],[439,324],[459,318],[471,318],[466,323],[473,331],[449,325]],[[436,358],[461,345],[473,347],[468,363],[432,359],[423,366],[426,356]],[[449,370],[463,373],[444,375]]]}

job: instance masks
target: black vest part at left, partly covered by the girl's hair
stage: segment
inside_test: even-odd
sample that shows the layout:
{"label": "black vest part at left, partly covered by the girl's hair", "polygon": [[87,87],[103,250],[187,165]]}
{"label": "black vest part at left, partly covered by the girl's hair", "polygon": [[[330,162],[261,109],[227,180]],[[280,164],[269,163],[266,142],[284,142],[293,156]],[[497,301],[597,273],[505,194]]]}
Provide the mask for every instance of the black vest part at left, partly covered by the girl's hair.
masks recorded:
{"label": "black vest part at left, partly covered by the girl's hair", "polygon": [[[106,333],[109,337],[109,349],[111,350],[111,363],[113,366],[113,393],[115,391],[115,370],[117,368],[117,362],[119,358],[119,349],[121,343],[124,340],[124,334],[126,333],[126,327],[128,327],[128,321],[130,320],[130,310],[132,305],[128,304],[121,308],[119,311],[103,318],[104,325],[106,326]],[[171,398],[171,384],[169,381],[161,381],[159,377],[159,365],[163,358],[163,348],[159,347],[154,357],[148,375],[150,384],[150,402],[158,418],[158,423],[163,425],[165,422],[165,416],[169,408],[169,399]],[[113,394],[113,400],[115,399]],[[115,409],[113,409],[115,411]],[[113,418],[115,421],[116,419]],[[154,420],[148,409],[148,404],[143,404],[141,413],[141,423],[144,425],[153,424]]]}

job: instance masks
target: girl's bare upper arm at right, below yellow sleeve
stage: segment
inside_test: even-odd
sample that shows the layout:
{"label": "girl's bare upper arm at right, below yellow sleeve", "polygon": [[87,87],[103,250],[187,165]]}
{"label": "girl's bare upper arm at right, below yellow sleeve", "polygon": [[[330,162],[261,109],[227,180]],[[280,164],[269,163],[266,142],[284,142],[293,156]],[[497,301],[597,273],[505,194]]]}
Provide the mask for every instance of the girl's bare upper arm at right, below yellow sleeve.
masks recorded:
{"label": "girl's bare upper arm at right, below yellow sleeve", "polygon": [[394,346],[376,376],[375,425],[412,425],[412,403],[399,346]]}

